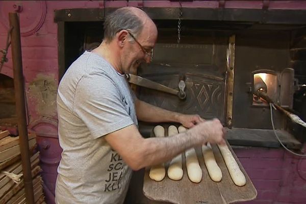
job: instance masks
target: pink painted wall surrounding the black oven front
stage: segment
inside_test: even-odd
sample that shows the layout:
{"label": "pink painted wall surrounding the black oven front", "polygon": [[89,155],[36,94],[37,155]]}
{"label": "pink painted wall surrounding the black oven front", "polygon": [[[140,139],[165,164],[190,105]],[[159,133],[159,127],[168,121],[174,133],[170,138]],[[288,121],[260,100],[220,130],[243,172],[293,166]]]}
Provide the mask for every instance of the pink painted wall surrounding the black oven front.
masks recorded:
{"label": "pink painted wall surrounding the black oven front", "polygon": [[[223,1],[182,2],[183,7],[218,8]],[[171,1],[0,1],[0,48],[5,47],[8,12],[21,6],[22,63],[30,118],[41,152],[46,201],[54,203],[56,167],[61,149],[57,139],[56,91],[58,85],[58,40],[54,11],[72,8],[123,6],[179,7]],[[225,1],[225,8],[261,9],[263,1]],[[14,8],[16,7],[16,8]],[[306,9],[304,1],[269,1],[269,9]],[[0,74],[13,77],[9,62]],[[1,108],[1,107],[0,107]],[[306,203],[306,162],[283,149],[236,149],[258,189],[258,199],[248,203]]]}

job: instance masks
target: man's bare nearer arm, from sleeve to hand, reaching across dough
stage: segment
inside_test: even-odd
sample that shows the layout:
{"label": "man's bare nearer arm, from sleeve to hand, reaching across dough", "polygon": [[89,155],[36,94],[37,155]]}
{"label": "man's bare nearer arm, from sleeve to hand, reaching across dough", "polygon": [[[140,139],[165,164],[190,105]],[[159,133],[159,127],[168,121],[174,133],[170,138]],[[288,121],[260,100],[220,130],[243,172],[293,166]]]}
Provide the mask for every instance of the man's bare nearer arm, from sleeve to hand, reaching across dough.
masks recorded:
{"label": "man's bare nearer arm, from sleeve to hand, reaching across dough", "polygon": [[136,125],[129,125],[105,136],[106,141],[133,170],[166,162],[184,150],[206,142],[225,143],[218,119],[201,122],[184,133],[165,138],[143,138]]}

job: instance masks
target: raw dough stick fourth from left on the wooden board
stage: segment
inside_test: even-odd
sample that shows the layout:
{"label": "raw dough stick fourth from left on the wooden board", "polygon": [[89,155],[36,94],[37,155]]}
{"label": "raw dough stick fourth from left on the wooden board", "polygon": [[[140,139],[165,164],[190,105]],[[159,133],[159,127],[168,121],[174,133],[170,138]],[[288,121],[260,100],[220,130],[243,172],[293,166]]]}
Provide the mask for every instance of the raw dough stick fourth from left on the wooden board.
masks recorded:
{"label": "raw dough stick fourth from left on the wooden board", "polygon": [[222,172],[220,167],[218,166],[214,152],[210,143],[207,145],[202,145],[202,154],[204,158],[204,162],[208,171],[209,176],[214,182],[219,182],[222,179]]}

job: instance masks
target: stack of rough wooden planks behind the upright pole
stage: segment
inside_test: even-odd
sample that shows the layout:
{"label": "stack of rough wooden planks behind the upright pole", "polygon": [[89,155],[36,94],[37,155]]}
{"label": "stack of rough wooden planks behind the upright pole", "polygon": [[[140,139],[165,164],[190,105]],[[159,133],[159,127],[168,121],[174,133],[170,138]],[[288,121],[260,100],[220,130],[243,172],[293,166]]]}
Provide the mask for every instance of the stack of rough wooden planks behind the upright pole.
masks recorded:
{"label": "stack of rough wooden planks behind the upright pole", "polygon": [[[39,164],[39,152],[34,154],[36,135],[29,134],[29,151],[33,177],[35,203],[45,203]],[[0,131],[0,204],[26,203],[19,137],[11,137],[8,131]]]}

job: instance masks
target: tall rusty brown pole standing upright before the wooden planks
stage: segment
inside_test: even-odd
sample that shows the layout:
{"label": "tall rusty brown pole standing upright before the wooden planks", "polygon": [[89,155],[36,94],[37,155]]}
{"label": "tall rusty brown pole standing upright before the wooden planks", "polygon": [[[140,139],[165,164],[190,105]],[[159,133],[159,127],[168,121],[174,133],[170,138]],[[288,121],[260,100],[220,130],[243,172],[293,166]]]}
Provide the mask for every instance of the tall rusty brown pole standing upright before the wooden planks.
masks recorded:
{"label": "tall rusty brown pole standing upright before the wooden planks", "polygon": [[27,203],[34,203],[34,191],[31,173],[31,163],[29,154],[29,139],[27,129],[27,119],[25,112],[24,84],[22,73],[21,41],[19,16],[17,13],[9,13],[10,26],[13,27],[11,33],[12,60],[14,72],[14,89],[16,99],[16,113],[18,122],[19,146],[21,153],[21,164],[24,182],[25,199]]}

